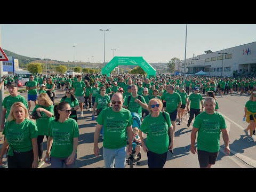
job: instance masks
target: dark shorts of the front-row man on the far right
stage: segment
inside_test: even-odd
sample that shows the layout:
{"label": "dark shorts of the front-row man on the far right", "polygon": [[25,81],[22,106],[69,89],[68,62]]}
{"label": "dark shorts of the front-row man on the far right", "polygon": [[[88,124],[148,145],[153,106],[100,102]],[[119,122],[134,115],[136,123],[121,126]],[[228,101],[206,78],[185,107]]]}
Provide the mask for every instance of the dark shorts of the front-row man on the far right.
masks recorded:
{"label": "dark shorts of the front-row man on the far right", "polygon": [[197,155],[200,167],[207,167],[208,164],[215,164],[216,159],[219,155],[219,151],[215,153],[210,153],[204,150],[197,150]]}

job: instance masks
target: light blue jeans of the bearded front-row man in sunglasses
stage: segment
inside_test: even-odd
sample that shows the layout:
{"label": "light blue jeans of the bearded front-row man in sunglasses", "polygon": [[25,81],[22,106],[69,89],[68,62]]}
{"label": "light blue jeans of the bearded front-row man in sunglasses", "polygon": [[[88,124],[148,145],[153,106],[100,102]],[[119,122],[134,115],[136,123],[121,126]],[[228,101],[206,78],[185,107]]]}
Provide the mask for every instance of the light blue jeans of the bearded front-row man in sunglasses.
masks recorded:
{"label": "light blue jeans of the bearded front-row man in sunglasses", "polygon": [[126,146],[119,149],[106,149],[103,147],[105,168],[125,168]]}

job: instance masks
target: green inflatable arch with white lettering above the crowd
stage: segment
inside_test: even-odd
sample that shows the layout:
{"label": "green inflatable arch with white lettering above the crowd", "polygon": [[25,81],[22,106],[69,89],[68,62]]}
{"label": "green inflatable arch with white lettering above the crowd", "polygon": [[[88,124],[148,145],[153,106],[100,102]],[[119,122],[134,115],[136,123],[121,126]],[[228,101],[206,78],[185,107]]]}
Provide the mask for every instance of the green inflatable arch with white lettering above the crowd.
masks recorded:
{"label": "green inflatable arch with white lettering above the crowd", "polygon": [[101,74],[110,76],[110,72],[119,65],[134,65],[140,66],[146,73],[148,78],[156,76],[156,69],[154,69],[147,61],[142,57],[114,57],[103,69]]}

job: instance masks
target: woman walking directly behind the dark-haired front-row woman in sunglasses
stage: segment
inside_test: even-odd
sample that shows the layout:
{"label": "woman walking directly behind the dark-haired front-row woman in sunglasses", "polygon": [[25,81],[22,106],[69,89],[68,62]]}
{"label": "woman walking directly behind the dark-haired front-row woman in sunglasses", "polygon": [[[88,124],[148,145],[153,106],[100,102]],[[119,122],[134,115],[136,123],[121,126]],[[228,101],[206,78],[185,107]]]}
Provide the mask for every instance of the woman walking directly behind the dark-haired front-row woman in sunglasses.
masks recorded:
{"label": "woman walking directly behind the dark-haired front-row woman in sunglasses", "polygon": [[72,112],[71,112],[69,118],[73,118],[77,122],[76,110],[79,109],[79,102],[76,99],[72,88],[67,90],[66,91],[66,95],[61,98],[60,102],[63,102],[63,101],[69,103],[69,105],[70,105],[70,107],[72,109]]}

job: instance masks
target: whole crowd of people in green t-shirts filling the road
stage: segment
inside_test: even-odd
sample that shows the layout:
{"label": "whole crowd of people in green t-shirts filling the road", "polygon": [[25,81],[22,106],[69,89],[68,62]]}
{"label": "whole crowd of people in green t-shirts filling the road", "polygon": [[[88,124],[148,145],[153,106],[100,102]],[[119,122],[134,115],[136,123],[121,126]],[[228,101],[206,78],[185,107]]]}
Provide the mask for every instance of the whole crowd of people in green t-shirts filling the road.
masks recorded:
{"label": "whole crowd of people in green t-shirts filling the road", "polygon": [[[15,79],[5,81],[1,85],[10,95],[2,103],[1,131],[5,138],[0,165],[7,157],[8,167],[42,167],[44,163],[51,167],[74,167],[79,137],[77,116],[83,116],[84,110],[97,116],[93,151],[98,157],[98,139],[102,137],[105,167],[125,167],[126,157],[132,150],[136,150],[133,158],[137,159],[141,147],[134,147],[134,141],[139,141],[147,153],[149,168],[164,167],[167,152],[173,153],[176,127],[187,113],[188,127],[195,118],[190,151],[198,154],[200,167],[211,167],[220,150],[220,133],[227,155],[230,153],[225,118],[218,113],[217,94],[221,97],[234,92],[251,95],[244,109],[249,123],[244,132],[249,141],[253,141],[252,134],[255,134],[254,77],[30,75],[26,84],[27,100],[18,93]],[[66,91],[60,103],[55,103],[56,89]],[[32,111],[31,101],[35,103]],[[139,128],[132,127],[131,113],[137,113],[142,120]],[[47,139],[45,157],[44,137]]]}

